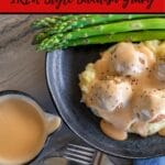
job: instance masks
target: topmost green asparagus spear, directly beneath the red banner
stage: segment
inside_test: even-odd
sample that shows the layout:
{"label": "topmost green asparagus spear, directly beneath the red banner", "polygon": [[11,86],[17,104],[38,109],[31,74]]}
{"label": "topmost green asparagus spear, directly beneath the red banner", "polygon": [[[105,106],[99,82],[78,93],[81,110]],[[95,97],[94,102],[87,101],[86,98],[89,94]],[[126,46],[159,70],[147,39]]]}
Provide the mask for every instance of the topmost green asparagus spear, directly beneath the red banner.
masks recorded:
{"label": "topmost green asparagus spear, directly beneath the red banner", "polygon": [[[119,20],[131,20],[136,18],[153,18],[153,16],[165,16],[164,14],[67,14],[67,15],[56,15],[56,16],[50,16],[44,19],[38,19],[32,23],[33,28],[46,28],[52,26],[53,24],[56,25],[57,21],[62,21],[65,23],[65,21],[68,20],[77,20],[77,22],[74,22],[73,26],[84,26],[89,24],[98,24],[98,23],[105,23],[105,21],[119,21]],[[87,20],[86,20],[87,18]],[[78,21],[79,19],[80,22]]]}

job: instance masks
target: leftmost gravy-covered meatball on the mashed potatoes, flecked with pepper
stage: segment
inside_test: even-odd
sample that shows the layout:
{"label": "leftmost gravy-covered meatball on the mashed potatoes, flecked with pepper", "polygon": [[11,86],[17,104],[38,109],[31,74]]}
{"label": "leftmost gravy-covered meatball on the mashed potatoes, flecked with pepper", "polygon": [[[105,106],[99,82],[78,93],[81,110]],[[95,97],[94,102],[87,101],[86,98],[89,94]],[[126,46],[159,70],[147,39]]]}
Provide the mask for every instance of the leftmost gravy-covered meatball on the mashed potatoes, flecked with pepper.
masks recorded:
{"label": "leftmost gravy-covered meatball on the mashed potatoes, flecked with pepper", "polygon": [[96,81],[88,96],[87,105],[94,110],[112,112],[128,103],[132,95],[132,88],[127,79],[116,77],[110,80]]}

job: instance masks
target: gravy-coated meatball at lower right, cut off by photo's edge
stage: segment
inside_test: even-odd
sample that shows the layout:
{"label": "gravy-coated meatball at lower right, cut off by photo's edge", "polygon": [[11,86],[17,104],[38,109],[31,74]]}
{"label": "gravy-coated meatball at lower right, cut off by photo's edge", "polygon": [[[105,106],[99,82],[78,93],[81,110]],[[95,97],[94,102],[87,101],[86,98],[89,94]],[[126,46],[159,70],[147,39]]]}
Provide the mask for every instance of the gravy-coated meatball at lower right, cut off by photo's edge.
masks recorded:
{"label": "gravy-coated meatball at lower right, cut off by photo's edge", "polygon": [[136,100],[134,112],[141,121],[156,122],[162,120],[165,114],[165,89],[144,90]]}

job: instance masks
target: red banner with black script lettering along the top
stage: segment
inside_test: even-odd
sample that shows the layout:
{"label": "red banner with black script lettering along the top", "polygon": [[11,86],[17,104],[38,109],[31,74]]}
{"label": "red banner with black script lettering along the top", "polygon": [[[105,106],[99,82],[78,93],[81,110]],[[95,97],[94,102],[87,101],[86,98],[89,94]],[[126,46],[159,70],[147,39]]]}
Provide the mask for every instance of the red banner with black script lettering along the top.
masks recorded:
{"label": "red banner with black script lettering along the top", "polygon": [[0,0],[0,13],[164,13],[165,0]]}

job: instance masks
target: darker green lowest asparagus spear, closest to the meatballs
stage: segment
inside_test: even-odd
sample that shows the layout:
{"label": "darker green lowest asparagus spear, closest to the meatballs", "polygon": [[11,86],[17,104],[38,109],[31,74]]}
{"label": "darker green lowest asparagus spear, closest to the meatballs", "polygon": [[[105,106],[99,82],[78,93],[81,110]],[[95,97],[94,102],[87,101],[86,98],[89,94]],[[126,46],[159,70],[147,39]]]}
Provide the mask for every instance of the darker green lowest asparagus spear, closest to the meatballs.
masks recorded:
{"label": "darker green lowest asparagus spear, closest to the meatballs", "polygon": [[58,43],[52,48],[45,51],[52,52],[57,48],[67,48],[70,46],[89,45],[89,44],[105,44],[116,42],[142,42],[150,40],[165,40],[165,31],[138,31],[138,32],[125,32],[109,35],[90,36],[88,38],[78,38],[67,41],[66,43]]}

